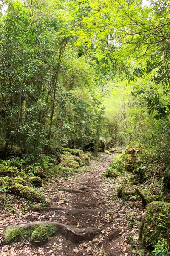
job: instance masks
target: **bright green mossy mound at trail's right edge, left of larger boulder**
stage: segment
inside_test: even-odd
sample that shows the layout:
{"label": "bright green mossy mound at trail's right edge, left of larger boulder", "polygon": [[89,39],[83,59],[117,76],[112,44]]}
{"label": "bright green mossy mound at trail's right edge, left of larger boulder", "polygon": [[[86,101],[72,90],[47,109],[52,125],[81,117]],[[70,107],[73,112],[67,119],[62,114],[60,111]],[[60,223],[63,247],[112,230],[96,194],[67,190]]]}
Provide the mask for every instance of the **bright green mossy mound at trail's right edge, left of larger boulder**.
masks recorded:
{"label": "bright green mossy mound at trail's right edge, left of larger boulder", "polygon": [[105,176],[116,178],[121,175],[124,171],[124,159],[125,152],[118,154],[114,157],[113,162],[110,164],[110,167],[106,169]]}

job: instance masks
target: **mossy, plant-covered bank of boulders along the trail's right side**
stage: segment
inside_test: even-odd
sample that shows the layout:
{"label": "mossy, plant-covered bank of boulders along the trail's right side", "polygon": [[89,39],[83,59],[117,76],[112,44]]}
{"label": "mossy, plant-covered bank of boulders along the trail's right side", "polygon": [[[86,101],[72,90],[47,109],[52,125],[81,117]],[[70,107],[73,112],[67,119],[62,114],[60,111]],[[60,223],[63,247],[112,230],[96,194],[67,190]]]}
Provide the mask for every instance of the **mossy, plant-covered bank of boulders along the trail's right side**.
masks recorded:
{"label": "mossy, plant-covered bank of boulders along the trail's right side", "polygon": [[[118,198],[125,201],[141,201],[145,217],[139,229],[140,248],[136,255],[170,255],[169,212],[170,176],[169,164],[144,145],[129,145],[116,155],[106,177],[117,178]],[[135,225],[135,223],[133,223]],[[147,248],[149,252],[144,252]],[[154,249],[154,250],[153,250]]]}

